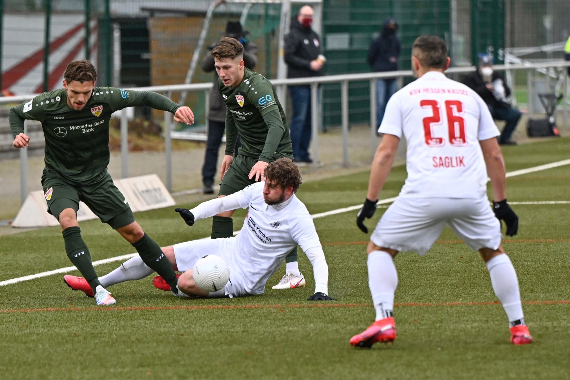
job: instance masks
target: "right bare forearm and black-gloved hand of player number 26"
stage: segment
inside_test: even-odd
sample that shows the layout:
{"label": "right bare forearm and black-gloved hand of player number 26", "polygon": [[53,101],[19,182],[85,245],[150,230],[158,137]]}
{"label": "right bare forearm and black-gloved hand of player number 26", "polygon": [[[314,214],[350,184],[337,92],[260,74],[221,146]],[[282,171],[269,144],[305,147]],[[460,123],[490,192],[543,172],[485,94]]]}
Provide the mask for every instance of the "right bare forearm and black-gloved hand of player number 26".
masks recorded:
{"label": "right bare forearm and black-gloved hand of player number 26", "polygon": [[503,154],[495,137],[479,141],[487,173],[493,189],[493,212],[497,219],[506,224],[507,236],[514,236],[519,231],[519,217],[507,203],[507,180],[505,177]]}

